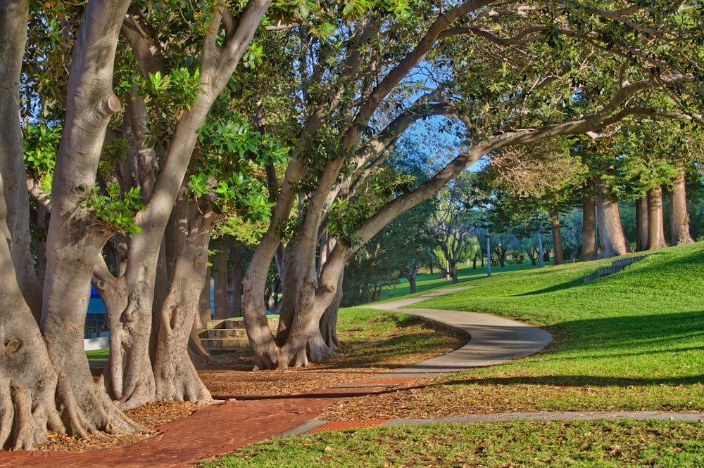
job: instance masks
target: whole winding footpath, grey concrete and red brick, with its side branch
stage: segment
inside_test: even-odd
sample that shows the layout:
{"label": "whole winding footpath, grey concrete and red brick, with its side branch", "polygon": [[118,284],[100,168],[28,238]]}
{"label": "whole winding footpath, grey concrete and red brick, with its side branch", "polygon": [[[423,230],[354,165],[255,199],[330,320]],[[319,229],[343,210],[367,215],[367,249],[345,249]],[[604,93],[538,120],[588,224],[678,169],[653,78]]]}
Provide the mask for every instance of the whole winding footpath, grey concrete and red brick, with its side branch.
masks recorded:
{"label": "whole winding footpath, grey concrete and red brick, with its side branch", "polygon": [[289,395],[245,395],[201,408],[181,420],[158,427],[158,434],[110,450],[86,452],[0,453],[0,467],[188,467],[199,460],[227,453],[275,436],[306,434],[350,427],[433,422],[565,420],[631,417],[636,419],[702,420],[702,413],[660,412],[536,412],[465,415],[435,419],[320,421],[316,418],[335,401],[351,396],[379,394],[391,386],[420,377],[434,377],[469,368],[494,365],[528,356],[551,342],[548,332],[484,313],[403,309],[417,301],[455,292],[441,290],[424,296],[372,306],[429,318],[470,334],[462,348],[408,368],[394,370],[331,389]]}

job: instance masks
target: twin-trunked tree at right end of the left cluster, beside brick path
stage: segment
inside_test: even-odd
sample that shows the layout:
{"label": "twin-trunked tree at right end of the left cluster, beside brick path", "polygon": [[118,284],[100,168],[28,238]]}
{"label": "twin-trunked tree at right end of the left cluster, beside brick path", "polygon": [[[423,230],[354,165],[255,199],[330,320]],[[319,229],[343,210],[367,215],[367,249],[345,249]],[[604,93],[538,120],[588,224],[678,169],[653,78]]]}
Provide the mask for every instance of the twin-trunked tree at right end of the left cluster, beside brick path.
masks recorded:
{"label": "twin-trunked tree at right end of the left cluster, beside brick path", "polygon": [[[195,298],[203,287],[207,239],[215,226],[219,210],[212,203],[212,197],[201,197],[193,202],[182,181],[194,148],[198,145],[199,135],[203,135],[201,129],[206,124],[208,113],[230,82],[232,72],[246,53],[269,4],[270,1],[249,1],[239,13],[237,22],[232,22],[232,13],[225,6],[217,6],[209,18],[209,25],[201,25],[202,15],[199,16],[198,11],[192,12],[194,27],[204,28],[200,46],[202,56],[194,72],[178,67],[178,62],[169,70],[165,66],[165,56],[151,53],[153,50],[161,53],[168,51],[163,51],[163,43],[157,37],[149,35],[150,32],[156,34],[162,31],[150,27],[146,17],[131,13],[130,21],[125,22],[122,28],[141,68],[142,79],[136,82],[138,85],[141,83],[142,92],[151,98],[152,108],[142,107],[144,100],[139,99],[131,100],[130,105],[141,107],[142,114],[146,112],[149,115],[149,110],[158,111],[162,119],[149,122],[149,132],[159,136],[160,141],[169,142],[165,148],[157,148],[161,150],[158,172],[155,173],[153,164],[149,164],[146,171],[139,173],[140,182],[148,181],[141,185],[153,188],[143,194],[146,207],[134,217],[138,232],[132,236],[125,271],[115,277],[108,275],[108,269],[102,266],[96,275],[96,289],[103,298],[113,296],[106,301],[106,305],[111,304],[108,305],[112,318],[111,350],[122,350],[120,355],[111,353],[110,363],[106,367],[109,371],[103,375],[103,383],[113,399],[120,401],[123,409],[154,399],[210,400],[210,394],[200,382],[188,357],[187,341],[195,320],[195,309],[191,304],[197,304]],[[159,18],[156,12],[152,11]],[[165,22],[173,21],[174,13],[177,12],[166,11]],[[225,41],[220,43],[218,34],[224,34]],[[170,43],[167,41],[165,44],[168,46]],[[183,53],[180,49],[177,52]],[[177,58],[184,60],[185,57]],[[170,112],[163,114],[167,109],[171,109]],[[172,120],[171,115],[179,118]],[[145,124],[133,123],[138,128]],[[224,134],[232,135],[235,122],[220,126],[218,123],[217,120],[208,122],[208,129],[212,132],[215,127]],[[143,127],[139,133],[143,136],[150,134]],[[135,143],[148,146],[146,140]],[[224,181],[218,181],[220,183]],[[218,188],[208,190],[201,185],[196,189],[191,183],[189,190],[192,193],[196,189],[196,195],[205,195],[203,191],[217,193]],[[171,225],[171,234],[164,238],[175,206],[177,224]],[[186,237],[182,237],[184,233]],[[175,246],[186,245],[183,242],[188,242],[189,248],[197,250],[188,252],[187,249],[175,249]],[[193,259],[200,265],[199,271],[184,270],[182,265]],[[158,268],[160,262],[167,268]],[[160,280],[158,272],[169,272],[170,277]],[[198,278],[185,280],[182,275],[198,275]],[[196,280],[195,283],[189,282]],[[183,289],[184,286],[187,290]],[[134,301],[131,297],[139,299]],[[114,308],[111,307],[113,304]],[[158,333],[158,346],[154,356],[150,356],[153,333]]]}

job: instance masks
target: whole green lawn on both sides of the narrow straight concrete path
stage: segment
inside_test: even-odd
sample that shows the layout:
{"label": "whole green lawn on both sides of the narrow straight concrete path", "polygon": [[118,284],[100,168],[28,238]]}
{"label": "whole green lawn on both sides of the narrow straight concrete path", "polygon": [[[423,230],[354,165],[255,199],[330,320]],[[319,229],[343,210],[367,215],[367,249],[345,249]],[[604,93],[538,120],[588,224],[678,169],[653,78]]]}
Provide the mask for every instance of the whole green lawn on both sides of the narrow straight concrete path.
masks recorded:
{"label": "whole green lawn on both sides of the narrow straight concrete path", "polygon": [[[416,304],[516,318],[554,339],[534,356],[445,377],[407,396],[406,405],[425,415],[704,410],[704,244],[655,252],[584,285],[584,276],[608,264],[477,277],[466,283],[471,289]],[[704,424],[604,420],[359,429],[249,446],[204,466],[283,464],[704,467]]]}

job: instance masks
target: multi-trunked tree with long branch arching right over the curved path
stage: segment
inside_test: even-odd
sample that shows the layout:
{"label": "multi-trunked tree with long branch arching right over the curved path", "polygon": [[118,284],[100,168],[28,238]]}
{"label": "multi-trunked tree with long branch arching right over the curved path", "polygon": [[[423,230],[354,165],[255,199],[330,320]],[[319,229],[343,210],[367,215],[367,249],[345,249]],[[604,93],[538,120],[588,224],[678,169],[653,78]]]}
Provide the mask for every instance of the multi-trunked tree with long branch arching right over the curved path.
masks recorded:
{"label": "multi-trunked tree with long branch arching right over the curved path", "polygon": [[[287,36],[296,38],[287,43],[287,50],[300,51],[298,96],[302,96],[303,124],[298,124],[301,131],[291,162],[278,185],[272,225],[244,280],[244,317],[258,367],[306,365],[306,350],[321,341],[318,321],[337,294],[345,261],[391,219],[439,192],[482,155],[560,134],[598,131],[627,115],[661,113],[648,105],[631,105],[632,97],[645,97],[644,91],[656,88],[650,81],[653,74],[643,73],[645,68],[640,67],[653,62],[650,53],[655,49],[645,51],[630,25],[638,23],[653,31],[670,27],[665,23],[674,18],[662,20],[674,13],[672,5],[658,5],[647,15],[642,6],[594,11],[570,4],[565,6],[569,14],[558,8],[543,15],[529,8],[515,15],[494,16],[488,14],[487,5],[467,1],[445,9],[414,4],[415,15],[410,15],[406,5],[382,2],[365,8],[350,4],[346,15],[325,29],[327,34],[299,25],[297,35]],[[325,13],[329,12],[315,11],[315,18],[321,19],[313,24],[325,22]],[[634,22],[623,22],[625,17]],[[629,30],[625,36],[624,28]],[[422,31],[420,39],[411,34],[418,30]],[[336,57],[341,60],[331,55],[333,36],[339,52]],[[689,43],[682,50],[689,51],[687,47]],[[613,55],[601,53],[606,51]],[[589,57],[596,61],[584,62]],[[417,92],[408,92],[404,80],[421,72],[424,61],[436,65],[439,72],[422,85],[432,91],[417,98]],[[622,73],[615,77],[612,70]],[[660,84],[680,82],[672,71],[660,68],[665,73],[658,75]],[[570,113],[574,119],[558,112],[564,105],[574,106],[575,112]],[[440,114],[465,123],[468,149],[413,192],[390,197],[367,212],[366,219],[347,219],[351,222],[346,224],[342,242],[337,242],[325,265],[319,265],[317,246],[332,200],[348,200],[410,122]],[[296,202],[298,274],[295,287],[289,290],[295,296],[291,301],[294,318],[286,341],[277,344],[263,315],[261,292],[264,272],[279,249],[285,232],[282,226],[290,226]],[[336,202],[334,207],[343,205]]]}

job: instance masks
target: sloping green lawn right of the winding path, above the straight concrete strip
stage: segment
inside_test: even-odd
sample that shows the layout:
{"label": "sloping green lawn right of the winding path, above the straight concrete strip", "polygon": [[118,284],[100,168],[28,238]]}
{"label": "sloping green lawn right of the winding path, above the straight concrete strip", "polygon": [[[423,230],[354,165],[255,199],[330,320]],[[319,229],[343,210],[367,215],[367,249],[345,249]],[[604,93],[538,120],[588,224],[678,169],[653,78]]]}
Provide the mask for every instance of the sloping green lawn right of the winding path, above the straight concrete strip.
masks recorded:
{"label": "sloping green lawn right of the winding path, above the straight concrete strip", "polygon": [[489,311],[553,334],[535,356],[446,383],[541,410],[703,410],[704,245],[659,251],[585,285],[599,264],[507,273],[421,303]]}

